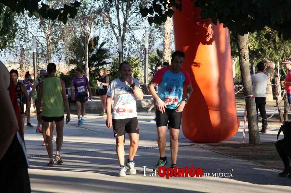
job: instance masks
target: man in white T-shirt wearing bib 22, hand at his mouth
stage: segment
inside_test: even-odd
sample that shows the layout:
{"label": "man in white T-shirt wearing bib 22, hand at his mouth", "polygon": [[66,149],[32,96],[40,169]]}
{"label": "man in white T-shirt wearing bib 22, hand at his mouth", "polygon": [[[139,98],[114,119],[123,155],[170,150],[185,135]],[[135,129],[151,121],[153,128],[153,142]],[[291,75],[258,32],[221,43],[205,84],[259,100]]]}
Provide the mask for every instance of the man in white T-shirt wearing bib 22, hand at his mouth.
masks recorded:
{"label": "man in white T-shirt wearing bib 22, hand at his mouth", "polygon": [[[116,138],[116,153],[120,163],[120,172],[118,176],[126,176],[124,165],[125,151],[125,133],[128,133],[130,140],[129,154],[126,166],[129,168],[129,174],[136,174],[134,167],[134,155],[139,145],[139,123],[137,121],[136,99],[143,99],[143,92],[140,88],[139,81],[131,78],[131,65],[127,62],[120,63],[118,79],[113,80],[107,90],[106,126],[113,128]],[[113,116],[111,119],[111,102],[113,104]]]}

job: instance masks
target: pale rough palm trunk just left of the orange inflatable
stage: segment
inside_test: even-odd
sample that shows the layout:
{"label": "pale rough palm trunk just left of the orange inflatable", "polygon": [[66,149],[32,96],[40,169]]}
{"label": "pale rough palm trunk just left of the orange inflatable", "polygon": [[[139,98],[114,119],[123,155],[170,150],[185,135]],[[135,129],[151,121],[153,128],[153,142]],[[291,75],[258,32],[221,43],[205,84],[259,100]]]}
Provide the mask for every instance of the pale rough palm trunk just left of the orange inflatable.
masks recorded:
{"label": "pale rough palm trunk just left of the orange inflatable", "polygon": [[172,18],[167,17],[164,23],[163,33],[163,59],[164,62],[171,64],[171,30],[172,30]]}

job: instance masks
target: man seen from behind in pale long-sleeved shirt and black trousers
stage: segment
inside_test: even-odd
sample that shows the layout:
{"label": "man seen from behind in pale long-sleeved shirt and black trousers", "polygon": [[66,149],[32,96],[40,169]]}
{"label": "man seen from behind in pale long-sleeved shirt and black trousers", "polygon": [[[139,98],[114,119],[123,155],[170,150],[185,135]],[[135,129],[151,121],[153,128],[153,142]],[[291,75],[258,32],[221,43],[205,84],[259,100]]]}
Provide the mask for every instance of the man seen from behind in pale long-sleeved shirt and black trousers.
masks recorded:
{"label": "man seen from behind in pale long-sleeved shirt and black trousers", "polygon": [[260,133],[267,133],[267,114],[266,114],[266,89],[268,83],[268,76],[264,74],[265,65],[263,62],[257,64],[257,74],[253,74],[251,79],[253,83],[253,90],[255,93],[255,105],[262,116],[262,130]]}

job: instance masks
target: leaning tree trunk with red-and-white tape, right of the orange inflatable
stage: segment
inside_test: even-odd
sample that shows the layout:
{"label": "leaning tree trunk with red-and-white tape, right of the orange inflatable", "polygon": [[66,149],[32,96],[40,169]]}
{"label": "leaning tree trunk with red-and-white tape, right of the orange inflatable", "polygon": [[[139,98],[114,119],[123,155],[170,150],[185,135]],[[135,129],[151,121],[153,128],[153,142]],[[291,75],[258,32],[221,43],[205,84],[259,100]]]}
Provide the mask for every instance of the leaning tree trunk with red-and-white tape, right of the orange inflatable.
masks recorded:
{"label": "leaning tree trunk with red-and-white tape, right of the orange inflatable", "polygon": [[[248,34],[244,36],[236,35],[235,39],[239,50],[239,66],[244,85],[244,95],[253,95],[251,73],[249,70],[249,48],[247,45]],[[255,98],[246,98],[246,111],[249,126],[249,143],[257,145],[261,143],[258,127],[257,112],[255,108]]]}

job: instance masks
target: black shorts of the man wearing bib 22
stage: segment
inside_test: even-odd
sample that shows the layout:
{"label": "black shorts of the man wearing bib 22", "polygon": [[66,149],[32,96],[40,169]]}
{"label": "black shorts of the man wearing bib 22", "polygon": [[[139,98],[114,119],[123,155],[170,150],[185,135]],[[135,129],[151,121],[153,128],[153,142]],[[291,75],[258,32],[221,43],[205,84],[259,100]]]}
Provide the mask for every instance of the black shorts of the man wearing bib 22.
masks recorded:
{"label": "black shorts of the man wearing bib 22", "polygon": [[127,119],[112,119],[114,136],[123,136],[125,133],[139,134],[139,122],[137,117]]}

